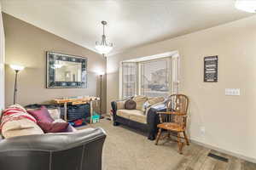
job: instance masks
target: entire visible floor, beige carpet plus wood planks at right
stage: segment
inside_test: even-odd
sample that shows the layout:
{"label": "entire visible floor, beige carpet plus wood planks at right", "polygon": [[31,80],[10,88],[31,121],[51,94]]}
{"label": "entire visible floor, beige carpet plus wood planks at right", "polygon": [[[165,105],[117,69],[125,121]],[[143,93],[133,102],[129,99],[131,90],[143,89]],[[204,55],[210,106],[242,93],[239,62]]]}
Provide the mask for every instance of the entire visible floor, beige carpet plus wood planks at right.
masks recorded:
{"label": "entire visible floor, beige carpet plus wood planks at right", "polygon": [[[154,141],[148,140],[145,134],[128,127],[113,127],[108,120],[101,120],[92,127],[102,127],[107,132],[102,170],[256,170],[256,164],[197,144],[185,146],[183,155],[180,155],[177,143],[163,140],[154,145]],[[229,161],[218,161],[207,156],[210,151]]]}

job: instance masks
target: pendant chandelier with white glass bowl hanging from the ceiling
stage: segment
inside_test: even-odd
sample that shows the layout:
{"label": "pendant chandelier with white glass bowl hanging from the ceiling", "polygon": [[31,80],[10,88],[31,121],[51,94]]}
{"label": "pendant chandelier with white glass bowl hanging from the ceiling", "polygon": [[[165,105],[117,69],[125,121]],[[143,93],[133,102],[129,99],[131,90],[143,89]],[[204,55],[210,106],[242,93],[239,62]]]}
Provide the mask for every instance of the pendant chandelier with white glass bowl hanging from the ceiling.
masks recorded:
{"label": "pendant chandelier with white glass bowl hanging from the ceiling", "polygon": [[102,35],[102,42],[96,42],[96,50],[105,55],[108,54],[113,49],[113,43],[107,43],[106,36],[105,36],[105,26],[107,25],[107,22],[102,20],[103,25],[103,35]]}

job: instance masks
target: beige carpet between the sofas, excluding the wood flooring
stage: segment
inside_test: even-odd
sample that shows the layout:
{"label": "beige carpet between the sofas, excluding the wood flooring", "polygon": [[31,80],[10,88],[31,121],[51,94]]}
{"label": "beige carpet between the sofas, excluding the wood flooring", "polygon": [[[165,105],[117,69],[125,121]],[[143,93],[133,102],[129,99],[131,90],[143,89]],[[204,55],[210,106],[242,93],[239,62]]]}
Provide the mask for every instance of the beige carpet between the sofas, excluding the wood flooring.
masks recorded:
{"label": "beige carpet between the sofas, excluding the wood flooring", "polygon": [[93,126],[107,132],[103,170],[171,170],[183,159],[177,153],[177,144],[154,145],[145,134],[123,126],[113,127],[108,120]]}

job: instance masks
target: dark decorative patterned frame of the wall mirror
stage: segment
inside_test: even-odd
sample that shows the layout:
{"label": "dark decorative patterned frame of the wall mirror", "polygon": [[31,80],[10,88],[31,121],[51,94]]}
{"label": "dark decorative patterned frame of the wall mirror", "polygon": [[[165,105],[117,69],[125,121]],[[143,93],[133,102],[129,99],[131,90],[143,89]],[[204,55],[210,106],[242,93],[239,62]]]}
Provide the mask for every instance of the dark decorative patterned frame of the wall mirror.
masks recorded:
{"label": "dark decorative patterned frame of the wall mirror", "polygon": [[[81,82],[55,82],[55,60],[81,63]],[[47,51],[46,65],[46,88],[87,88],[87,58]]]}

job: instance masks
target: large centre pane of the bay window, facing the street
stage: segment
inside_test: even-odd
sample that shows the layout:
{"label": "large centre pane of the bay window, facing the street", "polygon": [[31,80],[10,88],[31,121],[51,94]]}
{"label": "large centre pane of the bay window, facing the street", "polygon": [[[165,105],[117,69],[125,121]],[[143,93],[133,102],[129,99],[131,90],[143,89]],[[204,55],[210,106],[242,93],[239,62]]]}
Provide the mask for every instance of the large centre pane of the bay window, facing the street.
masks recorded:
{"label": "large centre pane of the bay window, facing the street", "polygon": [[167,97],[170,92],[170,59],[158,59],[141,63],[140,94],[148,97]]}

